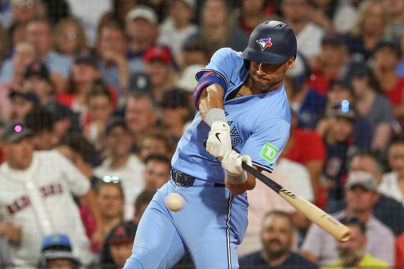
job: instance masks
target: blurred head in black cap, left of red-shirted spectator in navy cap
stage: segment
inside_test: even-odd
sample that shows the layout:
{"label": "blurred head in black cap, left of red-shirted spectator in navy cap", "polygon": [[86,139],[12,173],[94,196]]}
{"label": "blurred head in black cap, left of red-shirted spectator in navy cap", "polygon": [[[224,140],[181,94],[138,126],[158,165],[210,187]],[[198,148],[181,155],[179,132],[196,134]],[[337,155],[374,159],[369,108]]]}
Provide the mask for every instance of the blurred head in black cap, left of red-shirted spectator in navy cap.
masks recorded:
{"label": "blurred head in black cap, left of red-shirted spectator in navy cap", "polygon": [[51,81],[48,69],[41,62],[34,62],[27,67],[23,88],[33,91],[42,105],[55,99],[55,86]]}

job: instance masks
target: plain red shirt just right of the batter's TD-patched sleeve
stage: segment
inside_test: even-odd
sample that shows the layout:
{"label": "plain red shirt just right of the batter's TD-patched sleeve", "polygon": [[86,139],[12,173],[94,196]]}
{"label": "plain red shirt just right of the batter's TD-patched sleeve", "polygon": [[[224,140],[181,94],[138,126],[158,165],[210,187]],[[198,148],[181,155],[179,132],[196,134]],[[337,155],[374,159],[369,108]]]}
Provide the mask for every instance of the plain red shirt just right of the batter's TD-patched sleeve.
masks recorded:
{"label": "plain red shirt just right of the batter's TD-patched sleeve", "polygon": [[315,131],[295,129],[292,148],[283,157],[306,165],[313,160],[325,163],[326,154],[323,139]]}

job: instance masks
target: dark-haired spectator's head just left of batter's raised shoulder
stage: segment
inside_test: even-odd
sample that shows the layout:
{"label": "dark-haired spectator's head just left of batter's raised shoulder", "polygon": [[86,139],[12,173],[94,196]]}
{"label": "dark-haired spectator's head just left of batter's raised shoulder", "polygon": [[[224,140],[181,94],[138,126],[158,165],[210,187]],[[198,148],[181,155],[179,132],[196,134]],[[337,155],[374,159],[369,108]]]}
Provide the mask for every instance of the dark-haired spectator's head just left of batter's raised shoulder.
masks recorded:
{"label": "dark-haired spectator's head just left of batter's raised shoulder", "polygon": [[191,65],[206,66],[209,63],[208,47],[200,40],[190,41],[184,45],[181,52],[181,68],[184,69]]}

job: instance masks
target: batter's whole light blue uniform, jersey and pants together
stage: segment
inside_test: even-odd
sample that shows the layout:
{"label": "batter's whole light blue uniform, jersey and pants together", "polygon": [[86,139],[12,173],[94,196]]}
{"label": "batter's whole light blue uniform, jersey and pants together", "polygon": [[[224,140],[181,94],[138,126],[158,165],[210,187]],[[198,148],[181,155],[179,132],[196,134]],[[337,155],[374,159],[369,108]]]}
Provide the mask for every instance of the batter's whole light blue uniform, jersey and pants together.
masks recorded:
{"label": "batter's whole light blue uniform, jersey and pants together", "polygon": [[[227,100],[249,75],[241,52],[230,48],[219,49],[197,78],[207,70],[226,81],[224,107],[234,150],[250,155],[255,166],[271,172],[289,137],[284,87]],[[171,268],[187,251],[196,268],[238,268],[236,248],[247,228],[248,201],[246,193],[232,195],[224,187],[220,160],[204,147],[209,131],[197,112],[171,163],[174,170],[196,179],[192,186],[177,186],[171,179],[157,191],[141,218],[125,269]],[[171,193],[185,199],[178,212],[170,211],[164,202]]]}

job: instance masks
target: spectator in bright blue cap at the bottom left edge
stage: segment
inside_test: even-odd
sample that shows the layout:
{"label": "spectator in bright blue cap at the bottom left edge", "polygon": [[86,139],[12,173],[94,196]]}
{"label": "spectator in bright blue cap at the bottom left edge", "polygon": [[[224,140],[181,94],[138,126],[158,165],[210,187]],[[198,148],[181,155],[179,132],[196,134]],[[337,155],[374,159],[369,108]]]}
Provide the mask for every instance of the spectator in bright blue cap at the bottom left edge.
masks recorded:
{"label": "spectator in bright blue cap at the bottom left edge", "polygon": [[80,265],[67,235],[52,233],[43,237],[38,269],[77,269]]}

